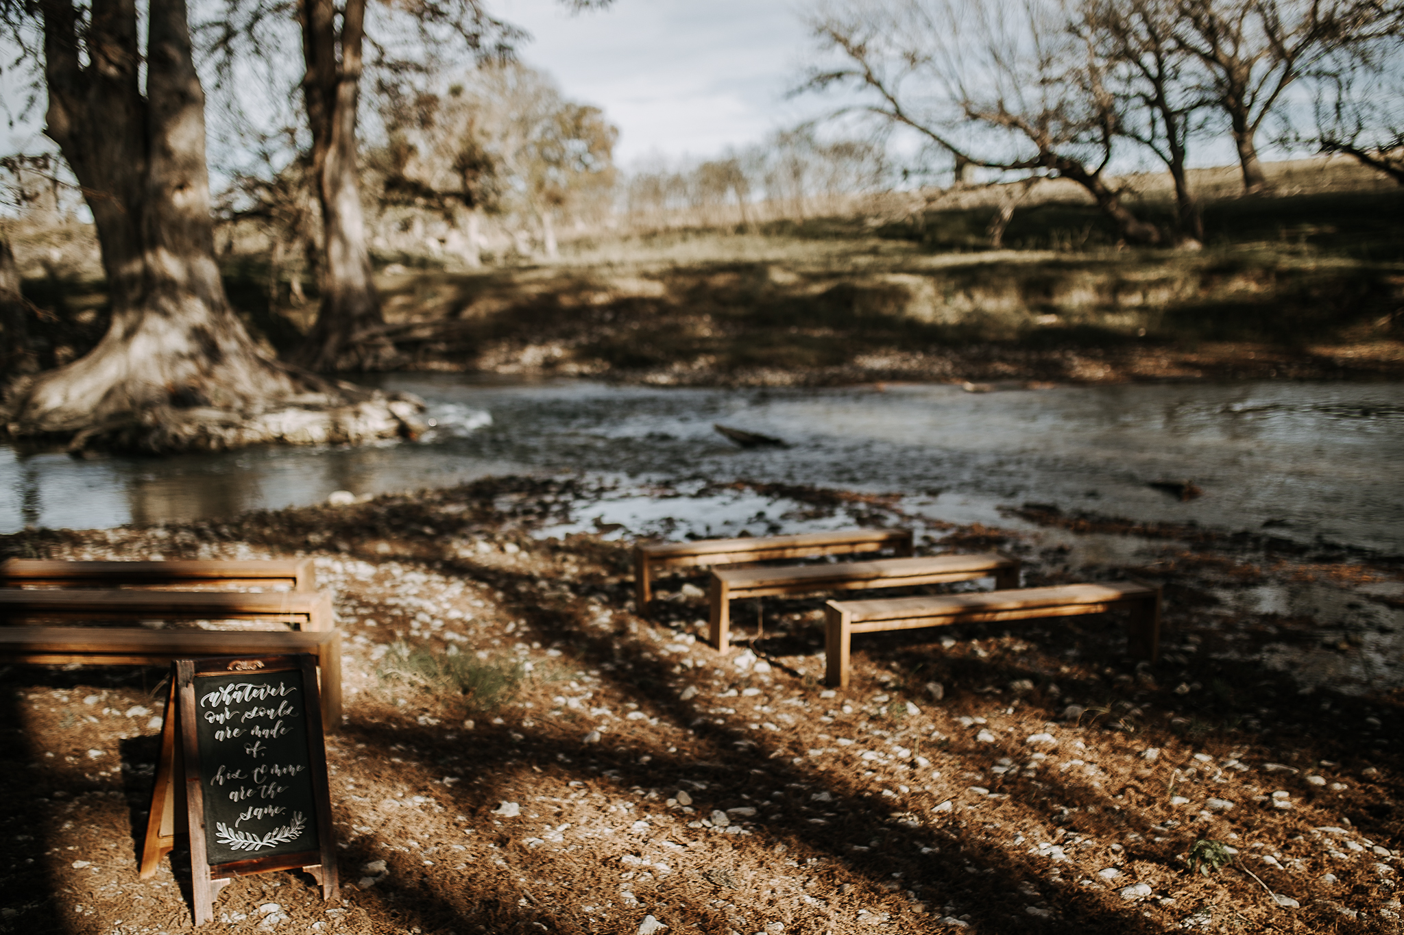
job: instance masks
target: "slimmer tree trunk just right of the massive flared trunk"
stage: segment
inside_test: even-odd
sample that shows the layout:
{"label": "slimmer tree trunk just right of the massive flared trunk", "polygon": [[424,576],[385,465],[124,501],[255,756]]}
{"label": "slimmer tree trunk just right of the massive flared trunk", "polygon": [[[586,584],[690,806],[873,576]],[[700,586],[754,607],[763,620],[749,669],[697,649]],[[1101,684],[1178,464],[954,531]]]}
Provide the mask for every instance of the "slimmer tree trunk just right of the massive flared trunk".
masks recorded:
{"label": "slimmer tree trunk just right of the massive flared trunk", "polygon": [[312,128],[312,178],[322,205],[326,262],[317,320],[298,355],[313,370],[383,370],[395,348],[371,276],[355,121],[361,87],[365,0],[347,0],[337,29],[333,0],[299,0],[303,98]]}

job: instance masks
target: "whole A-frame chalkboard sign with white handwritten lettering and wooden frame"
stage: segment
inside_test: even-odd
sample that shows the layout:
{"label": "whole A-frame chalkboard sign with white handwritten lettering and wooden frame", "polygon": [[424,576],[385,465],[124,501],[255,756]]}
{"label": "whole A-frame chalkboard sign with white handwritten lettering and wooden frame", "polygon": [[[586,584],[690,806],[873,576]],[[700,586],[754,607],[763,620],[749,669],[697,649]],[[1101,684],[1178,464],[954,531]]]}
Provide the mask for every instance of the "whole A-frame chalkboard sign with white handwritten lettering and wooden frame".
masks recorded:
{"label": "whole A-frame chalkboard sign with white handwritten lettering and wooden frame", "polygon": [[177,659],[173,667],[142,876],[173,847],[178,777],[197,925],[213,920],[215,893],[234,876],[302,868],[334,897],[314,657]]}

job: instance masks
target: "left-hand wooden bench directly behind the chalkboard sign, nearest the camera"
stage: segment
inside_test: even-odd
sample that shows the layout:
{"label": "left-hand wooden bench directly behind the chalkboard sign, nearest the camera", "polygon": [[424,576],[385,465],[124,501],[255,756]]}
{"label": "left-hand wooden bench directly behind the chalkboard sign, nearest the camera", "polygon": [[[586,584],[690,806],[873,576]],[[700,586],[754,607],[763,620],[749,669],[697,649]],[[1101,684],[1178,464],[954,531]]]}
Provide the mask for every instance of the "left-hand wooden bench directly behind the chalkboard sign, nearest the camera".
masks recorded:
{"label": "left-hand wooden bench directly behind the chalkboard sign, nearest the camera", "polygon": [[314,631],[15,627],[0,629],[0,659],[35,666],[160,666],[191,656],[312,653],[322,673],[322,716],[341,728],[341,634]]}

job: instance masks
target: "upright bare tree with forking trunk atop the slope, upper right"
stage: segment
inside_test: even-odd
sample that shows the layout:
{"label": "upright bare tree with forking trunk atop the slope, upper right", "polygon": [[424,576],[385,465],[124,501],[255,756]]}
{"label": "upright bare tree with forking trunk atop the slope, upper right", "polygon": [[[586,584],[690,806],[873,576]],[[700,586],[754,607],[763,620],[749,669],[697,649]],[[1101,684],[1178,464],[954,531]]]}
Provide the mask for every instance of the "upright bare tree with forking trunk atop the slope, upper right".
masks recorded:
{"label": "upright bare tree with forking trunk atop the slope, upper right", "polygon": [[1247,195],[1269,189],[1257,135],[1287,87],[1327,60],[1389,35],[1404,15],[1377,0],[1177,0],[1175,42],[1209,76],[1228,121]]}

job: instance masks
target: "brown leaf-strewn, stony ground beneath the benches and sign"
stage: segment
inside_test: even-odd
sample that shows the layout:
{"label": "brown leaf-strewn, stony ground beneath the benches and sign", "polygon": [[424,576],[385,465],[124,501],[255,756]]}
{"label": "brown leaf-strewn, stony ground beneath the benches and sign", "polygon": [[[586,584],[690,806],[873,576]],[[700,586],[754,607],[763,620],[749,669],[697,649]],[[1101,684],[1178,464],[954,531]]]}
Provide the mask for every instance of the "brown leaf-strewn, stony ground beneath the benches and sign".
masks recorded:
{"label": "brown leaf-strewn, stony ground beneath the benches and sign", "polygon": [[[665,579],[644,620],[628,530],[532,535],[587,486],[498,478],[38,530],[0,537],[0,555],[316,557],[347,650],[327,739],[341,900],[298,873],[239,879],[211,929],[1400,931],[1398,653],[1375,663],[1393,676],[1337,687],[1265,659],[1296,645],[1349,669],[1376,652],[1404,561],[1046,506],[962,527],[900,498],[769,491],[782,523],[920,520],[922,551],[997,547],[1026,585],[1165,585],[1155,666],[1126,655],[1115,618],[991,624],[859,638],[833,691],[823,597],[767,599],[760,639],[754,604],[736,604],[723,656],[699,641],[702,573]],[[1303,582],[1376,624],[1236,599]],[[501,691],[397,677],[425,646],[503,674]],[[163,678],[0,669],[0,931],[191,928],[180,852],[136,876]],[[1228,862],[1193,872],[1200,841]]]}

